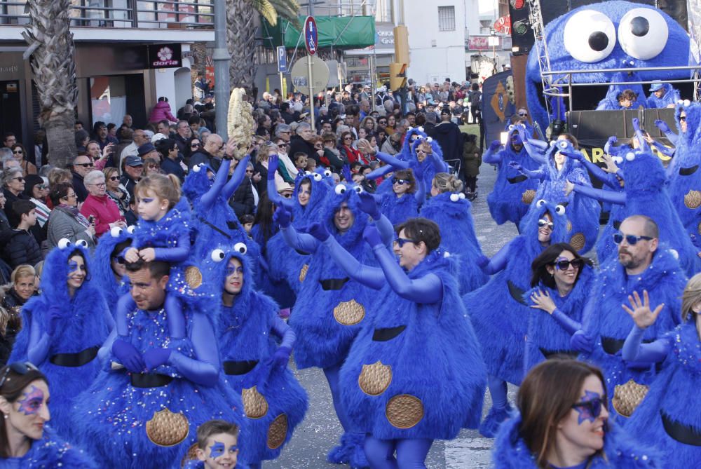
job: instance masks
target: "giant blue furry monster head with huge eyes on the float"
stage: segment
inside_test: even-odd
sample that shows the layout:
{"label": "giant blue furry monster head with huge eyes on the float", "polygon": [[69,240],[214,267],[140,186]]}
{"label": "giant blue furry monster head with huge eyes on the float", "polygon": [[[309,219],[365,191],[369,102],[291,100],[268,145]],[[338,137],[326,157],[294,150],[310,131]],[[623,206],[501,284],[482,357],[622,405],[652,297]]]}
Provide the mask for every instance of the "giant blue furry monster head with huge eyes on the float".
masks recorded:
{"label": "giant blue furry monster head with huge eyes on the float", "polygon": [[[630,32],[630,20],[632,18],[630,18],[630,15],[626,18],[626,24],[621,24],[621,20],[626,13],[629,13],[634,8],[646,8],[653,11],[648,13],[648,15],[653,15],[648,18],[650,20],[648,22],[650,30],[641,35],[654,34],[659,36],[660,39],[656,40],[652,45],[648,37],[640,37],[640,39],[632,37],[633,35]],[[585,11],[592,13],[574,18],[571,27],[581,30],[583,25],[607,25],[607,30],[601,32],[598,38],[594,38],[606,39],[606,47],[597,45],[598,51],[590,46],[588,41],[589,34],[583,35],[579,41],[565,41],[565,29],[569,20],[574,15]],[[661,31],[664,27],[661,26],[661,23],[667,26],[666,41],[663,40],[665,37]],[[592,27],[590,31],[592,38],[595,36],[595,32],[594,27]],[[619,35],[625,34],[625,47],[617,40],[616,32]],[[572,39],[576,39],[576,36],[573,36]],[[630,67],[630,71],[636,73],[642,81],[688,78],[688,71],[686,70],[636,72],[637,67],[687,67],[689,64],[689,38],[686,31],[667,13],[648,5],[616,0],[575,8],[545,25],[545,40],[547,41],[551,68],[554,72],[558,70],[586,71]],[[640,43],[637,42],[638,40]],[[644,41],[648,42],[648,47],[646,48],[641,47],[641,43]],[[651,54],[654,55],[650,57]],[[572,81],[573,83],[609,83],[612,79],[611,75],[591,72],[573,74]],[[557,80],[563,77],[554,75],[552,78]],[[549,121],[540,90],[541,83],[538,54],[536,53],[536,48],[533,48],[526,64],[526,100],[533,120],[544,126]],[[642,100],[644,100],[644,94],[639,97],[639,102]]]}

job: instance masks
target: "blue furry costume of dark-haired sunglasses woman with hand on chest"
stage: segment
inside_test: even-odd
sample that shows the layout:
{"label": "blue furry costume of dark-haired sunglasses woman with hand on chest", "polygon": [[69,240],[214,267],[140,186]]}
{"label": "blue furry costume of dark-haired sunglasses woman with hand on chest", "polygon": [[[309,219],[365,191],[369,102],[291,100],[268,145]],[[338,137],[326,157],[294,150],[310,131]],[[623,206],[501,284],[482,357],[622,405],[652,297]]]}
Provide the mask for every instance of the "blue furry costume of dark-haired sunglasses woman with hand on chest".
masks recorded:
{"label": "blue furry costume of dark-haired sunglasses woman with hand on chest", "polygon": [[524,299],[528,299],[538,290],[547,292],[557,306],[557,311],[567,319],[561,322],[558,313],[548,314],[541,309],[531,309],[526,330],[524,374],[528,374],[529,369],[547,360],[551,355],[576,355],[570,346],[570,338],[581,325],[582,313],[589,299],[594,277],[594,269],[585,263],[580,267],[577,283],[566,297],[560,297],[557,288],[547,287],[542,282],[524,294]]}

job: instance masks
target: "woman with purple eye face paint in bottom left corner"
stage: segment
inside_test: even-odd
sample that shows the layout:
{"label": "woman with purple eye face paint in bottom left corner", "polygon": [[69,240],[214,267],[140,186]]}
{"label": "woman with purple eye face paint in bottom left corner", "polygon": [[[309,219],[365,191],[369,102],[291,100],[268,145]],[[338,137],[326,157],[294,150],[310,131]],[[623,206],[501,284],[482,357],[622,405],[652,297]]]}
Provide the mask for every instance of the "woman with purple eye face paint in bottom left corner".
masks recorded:
{"label": "woman with purple eye face paint in bottom left corner", "polygon": [[32,363],[14,362],[0,369],[0,466],[97,469],[93,458],[48,426],[47,421],[55,421],[49,397],[46,376]]}

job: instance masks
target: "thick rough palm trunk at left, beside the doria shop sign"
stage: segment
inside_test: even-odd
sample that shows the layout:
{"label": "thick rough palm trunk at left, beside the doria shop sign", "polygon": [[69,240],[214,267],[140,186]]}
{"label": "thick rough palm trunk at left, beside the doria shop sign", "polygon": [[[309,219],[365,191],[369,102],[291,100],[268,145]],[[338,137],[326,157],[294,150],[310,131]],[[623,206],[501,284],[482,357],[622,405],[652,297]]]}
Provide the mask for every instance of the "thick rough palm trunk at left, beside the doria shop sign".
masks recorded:
{"label": "thick rough palm trunk at left, beside the doria shop sign", "polygon": [[22,32],[39,95],[39,124],[46,128],[49,163],[65,168],[76,155],[78,103],[70,0],[29,0],[29,25]]}

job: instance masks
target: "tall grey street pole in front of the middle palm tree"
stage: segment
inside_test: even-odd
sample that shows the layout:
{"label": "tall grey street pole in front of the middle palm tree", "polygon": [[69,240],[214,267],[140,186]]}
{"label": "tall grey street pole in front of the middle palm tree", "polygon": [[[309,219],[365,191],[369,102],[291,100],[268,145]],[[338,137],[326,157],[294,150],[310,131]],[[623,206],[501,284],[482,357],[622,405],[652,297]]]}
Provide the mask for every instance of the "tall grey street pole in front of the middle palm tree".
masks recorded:
{"label": "tall grey street pole in front of the middle palm tree", "polygon": [[229,140],[227,118],[229,116],[229,49],[226,48],[226,0],[215,0],[215,125],[217,134],[226,142]]}

